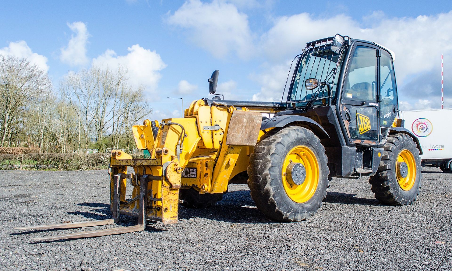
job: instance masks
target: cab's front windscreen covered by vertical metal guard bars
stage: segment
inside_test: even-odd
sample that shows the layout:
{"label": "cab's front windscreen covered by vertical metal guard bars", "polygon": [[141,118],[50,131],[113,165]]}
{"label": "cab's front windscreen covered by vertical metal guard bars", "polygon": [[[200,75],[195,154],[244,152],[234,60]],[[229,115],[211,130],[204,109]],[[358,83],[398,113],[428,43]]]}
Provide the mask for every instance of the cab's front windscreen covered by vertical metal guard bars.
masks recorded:
{"label": "cab's front windscreen covered by vertical metal guard bars", "polygon": [[293,73],[289,88],[287,102],[296,104],[296,107],[306,105],[312,99],[328,97],[325,86],[306,90],[305,81],[316,78],[320,82],[328,82],[331,85],[332,95],[335,95],[339,76],[339,54],[331,51],[331,38],[313,41],[306,45],[300,56],[296,71]]}

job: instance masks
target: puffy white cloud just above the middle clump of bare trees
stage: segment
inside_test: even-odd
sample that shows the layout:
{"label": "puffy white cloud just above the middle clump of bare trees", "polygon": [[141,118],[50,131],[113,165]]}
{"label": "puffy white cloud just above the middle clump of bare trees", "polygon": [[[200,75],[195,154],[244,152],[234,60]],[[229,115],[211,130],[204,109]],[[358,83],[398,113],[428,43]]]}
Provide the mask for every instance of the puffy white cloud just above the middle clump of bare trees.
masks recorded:
{"label": "puffy white cloud just above the middle clump of bare trees", "polygon": [[128,47],[127,55],[116,55],[115,51],[107,50],[92,61],[93,65],[116,68],[119,65],[127,68],[129,82],[134,86],[144,85],[149,92],[155,92],[160,78],[160,70],[166,64],[155,51],[145,49],[139,44]]}

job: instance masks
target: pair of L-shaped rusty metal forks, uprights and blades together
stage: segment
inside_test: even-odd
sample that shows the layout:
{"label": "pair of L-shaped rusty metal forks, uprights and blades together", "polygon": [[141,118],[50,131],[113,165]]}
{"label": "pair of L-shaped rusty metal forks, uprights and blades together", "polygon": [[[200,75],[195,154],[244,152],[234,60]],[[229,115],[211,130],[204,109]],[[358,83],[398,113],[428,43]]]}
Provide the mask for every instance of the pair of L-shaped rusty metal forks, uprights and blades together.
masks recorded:
{"label": "pair of L-shaped rusty metal forks, uprights and blades together", "polygon": [[[120,196],[121,193],[125,193],[125,191],[120,191],[119,182],[121,179],[127,177],[122,173],[116,174],[113,176],[114,178],[114,194],[113,194],[113,202],[112,204],[112,213],[113,219],[105,219],[105,220],[94,220],[94,221],[84,221],[84,222],[72,222],[72,223],[63,223],[63,224],[54,224],[54,225],[39,225],[39,226],[31,226],[31,227],[15,227],[15,230],[53,230],[53,229],[71,229],[71,228],[83,228],[83,227],[91,227],[91,226],[100,226],[100,225],[109,225],[118,223],[119,221],[119,213],[120,213]],[[34,237],[33,240],[37,241],[51,241],[51,240],[59,240],[59,239],[76,239],[76,238],[87,238],[87,237],[97,237],[104,235],[112,235],[112,234],[123,234],[134,231],[141,231],[146,228],[146,207],[148,201],[148,175],[143,175],[140,178],[140,194],[139,194],[139,210],[138,210],[138,224],[135,226],[128,227],[119,227],[113,229],[105,229],[105,230],[91,230],[84,231],[72,234],[60,234],[54,236],[44,236],[44,237]]]}

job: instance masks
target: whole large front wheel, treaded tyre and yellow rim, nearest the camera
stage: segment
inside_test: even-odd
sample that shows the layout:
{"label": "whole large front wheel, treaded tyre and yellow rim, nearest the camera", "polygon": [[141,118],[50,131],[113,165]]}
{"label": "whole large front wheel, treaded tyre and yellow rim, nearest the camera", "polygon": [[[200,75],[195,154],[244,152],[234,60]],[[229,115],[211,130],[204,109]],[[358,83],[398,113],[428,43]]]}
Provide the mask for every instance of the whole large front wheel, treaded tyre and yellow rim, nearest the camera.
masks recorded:
{"label": "whole large front wheel, treaded tyre and yellow rim, nearest the camera", "polygon": [[273,220],[306,220],[322,206],[330,170],[312,131],[292,126],[260,141],[250,155],[251,198]]}

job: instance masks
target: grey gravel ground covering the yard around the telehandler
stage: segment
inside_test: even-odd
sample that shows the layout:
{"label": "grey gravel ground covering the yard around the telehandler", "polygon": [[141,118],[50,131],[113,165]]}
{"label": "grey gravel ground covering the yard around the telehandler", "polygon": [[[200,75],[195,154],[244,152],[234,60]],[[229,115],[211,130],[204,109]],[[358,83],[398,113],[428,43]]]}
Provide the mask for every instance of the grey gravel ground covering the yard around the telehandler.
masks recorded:
{"label": "grey gravel ground covering the yard around the telehandler", "polygon": [[[0,270],[450,270],[450,174],[424,168],[412,206],[381,206],[366,178],[333,179],[310,220],[276,223],[260,213],[246,185],[229,186],[216,207],[181,207],[179,223],[145,231],[37,243],[18,225],[105,219],[105,170],[0,170]],[[121,225],[134,225],[131,218]],[[92,227],[103,229],[116,225]]]}

